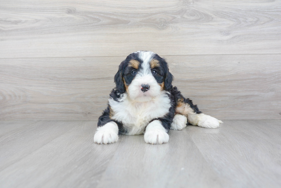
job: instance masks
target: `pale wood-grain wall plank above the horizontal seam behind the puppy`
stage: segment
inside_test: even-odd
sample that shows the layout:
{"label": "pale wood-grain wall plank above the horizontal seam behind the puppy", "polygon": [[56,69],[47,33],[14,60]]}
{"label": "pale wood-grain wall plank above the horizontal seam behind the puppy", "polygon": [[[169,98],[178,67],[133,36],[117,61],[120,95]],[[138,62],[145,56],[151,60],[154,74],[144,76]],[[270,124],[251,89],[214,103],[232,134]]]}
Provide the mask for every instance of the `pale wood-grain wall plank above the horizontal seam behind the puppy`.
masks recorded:
{"label": "pale wood-grain wall plank above the horizontal seam behind the puppy", "polygon": [[281,52],[281,2],[0,2],[0,57],[273,54]]}

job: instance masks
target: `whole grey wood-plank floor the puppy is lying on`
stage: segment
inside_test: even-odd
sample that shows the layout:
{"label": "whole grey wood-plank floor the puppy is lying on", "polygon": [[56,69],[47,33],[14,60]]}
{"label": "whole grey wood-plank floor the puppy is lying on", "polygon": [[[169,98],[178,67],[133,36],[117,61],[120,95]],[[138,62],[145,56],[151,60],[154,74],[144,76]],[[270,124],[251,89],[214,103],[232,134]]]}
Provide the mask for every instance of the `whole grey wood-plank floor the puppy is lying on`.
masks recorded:
{"label": "whole grey wood-plank floor the puppy is lying on", "polygon": [[0,121],[0,187],[281,187],[281,121],[229,120],[170,131],[168,144],[96,121]]}

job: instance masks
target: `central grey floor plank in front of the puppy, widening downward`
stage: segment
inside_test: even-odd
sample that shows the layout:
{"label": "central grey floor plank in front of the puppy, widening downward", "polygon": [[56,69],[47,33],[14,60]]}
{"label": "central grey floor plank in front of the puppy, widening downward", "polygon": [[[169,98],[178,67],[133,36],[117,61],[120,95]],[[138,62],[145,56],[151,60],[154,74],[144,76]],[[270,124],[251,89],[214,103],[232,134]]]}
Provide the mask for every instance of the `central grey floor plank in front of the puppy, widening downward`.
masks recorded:
{"label": "central grey floor plank in front of the puppy, widening downward", "polygon": [[222,187],[191,137],[169,136],[169,144],[151,145],[143,135],[124,135],[97,187]]}

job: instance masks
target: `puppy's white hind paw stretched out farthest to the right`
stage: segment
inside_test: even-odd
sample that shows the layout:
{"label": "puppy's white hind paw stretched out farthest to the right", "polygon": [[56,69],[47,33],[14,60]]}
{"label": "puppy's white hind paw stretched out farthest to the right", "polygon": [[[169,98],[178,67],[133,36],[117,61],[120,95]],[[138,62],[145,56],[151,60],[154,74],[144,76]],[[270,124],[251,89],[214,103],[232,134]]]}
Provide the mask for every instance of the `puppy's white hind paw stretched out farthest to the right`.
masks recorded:
{"label": "puppy's white hind paw stretched out farthest to the right", "polygon": [[220,126],[220,123],[223,123],[222,121],[209,116],[205,115],[203,113],[200,114],[188,114],[187,116],[188,122],[192,125],[198,125],[198,127],[204,127],[204,128],[218,128]]}

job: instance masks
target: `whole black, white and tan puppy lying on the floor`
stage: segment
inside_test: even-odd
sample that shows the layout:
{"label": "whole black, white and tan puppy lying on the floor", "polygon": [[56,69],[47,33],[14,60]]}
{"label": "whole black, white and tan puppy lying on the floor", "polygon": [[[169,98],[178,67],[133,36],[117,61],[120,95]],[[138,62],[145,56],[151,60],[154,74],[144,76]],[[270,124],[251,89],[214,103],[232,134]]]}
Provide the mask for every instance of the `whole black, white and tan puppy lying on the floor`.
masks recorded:
{"label": "whole black, white and tan puppy lying on the floor", "polygon": [[150,51],[131,53],[114,76],[116,88],[99,117],[94,142],[118,141],[118,134],[144,134],[146,143],[169,141],[169,129],[182,130],[187,122],[217,128],[220,120],[203,114],[192,100],[172,86],[165,59]]}

